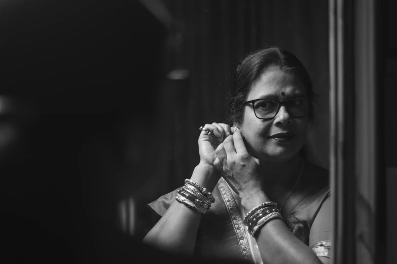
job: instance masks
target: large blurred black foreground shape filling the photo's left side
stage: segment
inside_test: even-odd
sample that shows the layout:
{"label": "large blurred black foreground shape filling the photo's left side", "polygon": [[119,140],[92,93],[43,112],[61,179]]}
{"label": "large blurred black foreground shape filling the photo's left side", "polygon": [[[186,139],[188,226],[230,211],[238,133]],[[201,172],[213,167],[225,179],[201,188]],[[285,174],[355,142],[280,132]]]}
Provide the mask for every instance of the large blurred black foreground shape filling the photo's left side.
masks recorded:
{"label": "large blurred black foreground shape filling the photo's left side", "polygon": [[123,145],[131,137],[148,154],[165,27],[138,1],[20,0],[0,2],[0,35],[11,262],[169,259],[116,226],[117,204],[151,173]]}

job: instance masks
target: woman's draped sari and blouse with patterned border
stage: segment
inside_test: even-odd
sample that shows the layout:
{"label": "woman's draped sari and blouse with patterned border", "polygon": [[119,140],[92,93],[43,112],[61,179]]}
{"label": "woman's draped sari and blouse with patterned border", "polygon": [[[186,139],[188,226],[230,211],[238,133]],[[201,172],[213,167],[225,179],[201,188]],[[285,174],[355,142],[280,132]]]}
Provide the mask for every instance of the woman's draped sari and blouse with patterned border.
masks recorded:
{"label": "woman's draped sari and blouse with patterned border", "polygon": [[[327,208],[323,209],[330,213],[328,177],[317,177],[324,175],[324,171],[317,175],[303,173],[300,184],[294,190],[296,194],[291,195],[288,200],[290,206],[286,204],[285,210],[283,208],[281,213],[283,222],[298,239],[310,246],[317,256],[330,257],[331,227],[324,226],[318,234],[310,234],[313,221],[327,200]],[[328,175],[328,172],[326,173]],[[175,201],[176,194],[177,190],[174,190],[153,201],[149,206],[159,215],[163,215]],[[255,239],[248,234],[247,228],[243,225],[244,212],[238,195],[223,178],[215,186],[212,195],[215,197],[215,202],[202,216],[194,254],[202,258],[238,259],[248,263],[263,263]],[[326,215],[325,218],[329,216]]]}

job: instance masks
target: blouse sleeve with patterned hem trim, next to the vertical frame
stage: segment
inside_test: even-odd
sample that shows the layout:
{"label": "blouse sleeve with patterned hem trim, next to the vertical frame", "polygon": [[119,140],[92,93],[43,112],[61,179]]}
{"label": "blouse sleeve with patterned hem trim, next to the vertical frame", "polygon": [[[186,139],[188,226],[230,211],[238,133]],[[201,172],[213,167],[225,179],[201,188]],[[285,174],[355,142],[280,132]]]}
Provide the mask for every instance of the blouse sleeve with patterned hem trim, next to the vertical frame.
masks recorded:
{"label": "blouse sleeve with patterned hem trim, next to the vertical frame", "polygon": [[321,205],[309,234],[309,247],[317,256],[331,257],[331,199]]}

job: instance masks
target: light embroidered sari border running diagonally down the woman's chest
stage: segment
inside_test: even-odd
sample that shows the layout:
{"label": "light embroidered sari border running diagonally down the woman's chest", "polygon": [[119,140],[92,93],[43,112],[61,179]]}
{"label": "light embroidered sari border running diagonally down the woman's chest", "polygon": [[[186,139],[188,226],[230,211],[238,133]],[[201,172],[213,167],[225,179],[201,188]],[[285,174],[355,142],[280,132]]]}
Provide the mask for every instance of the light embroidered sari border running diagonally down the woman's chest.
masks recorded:
{"label": "light embroidered sari border running diagonally down the woman's chest", "polygon": [[238,242],[240,244],[241,255],[244,260],[253,263],[254,259],[252,258],[251,250],[249,249],[248,239],[244,231],[244,225],[240,215],[238,214],[238,209],[232,192],[229,189],[228,184],[222,178],[218,182],[218,188],[221,192],[222,198],[226,204],[231,221],[233,223],[234,231],[236,232]]}

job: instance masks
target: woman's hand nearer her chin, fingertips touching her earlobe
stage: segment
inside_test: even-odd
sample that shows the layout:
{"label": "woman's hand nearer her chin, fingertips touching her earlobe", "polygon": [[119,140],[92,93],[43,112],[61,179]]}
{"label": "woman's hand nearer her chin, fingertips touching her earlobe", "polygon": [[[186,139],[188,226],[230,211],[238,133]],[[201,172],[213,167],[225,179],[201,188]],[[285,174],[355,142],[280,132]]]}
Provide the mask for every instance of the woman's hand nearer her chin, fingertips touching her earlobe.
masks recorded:
{"label": "woman's hand nearer her chin, fingertips touching her earlobe", "polygon": [[214,166],[240,198],[262,192],[259,164],[248,153],[240,129],[228,136],[216,148],[215,154],[218,158],[215,159]]}

